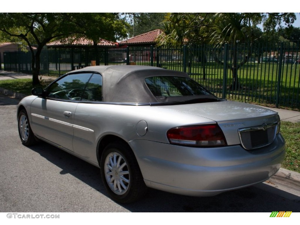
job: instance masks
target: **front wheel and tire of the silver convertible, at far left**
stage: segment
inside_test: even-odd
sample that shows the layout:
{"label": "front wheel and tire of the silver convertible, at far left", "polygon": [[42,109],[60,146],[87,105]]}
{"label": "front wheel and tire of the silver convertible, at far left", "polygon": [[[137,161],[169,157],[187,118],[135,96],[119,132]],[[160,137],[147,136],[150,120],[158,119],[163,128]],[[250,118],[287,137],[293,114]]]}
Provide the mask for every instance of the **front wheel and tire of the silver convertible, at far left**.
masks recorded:
{"label": "front wheel and tire of the silver convertible, at far left", "polygon": [[32,146],[37,142],[31,130],[26,110],[21,110],[18,115],[18,130],[23,145]]}

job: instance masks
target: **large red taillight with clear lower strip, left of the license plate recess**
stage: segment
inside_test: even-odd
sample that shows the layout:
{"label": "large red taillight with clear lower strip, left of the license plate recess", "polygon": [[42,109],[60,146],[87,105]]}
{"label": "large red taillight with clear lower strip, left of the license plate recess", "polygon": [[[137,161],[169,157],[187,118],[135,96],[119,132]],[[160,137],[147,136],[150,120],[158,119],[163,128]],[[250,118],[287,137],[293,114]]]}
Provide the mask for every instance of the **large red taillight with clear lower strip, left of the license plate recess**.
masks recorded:
{"label": "large red taillight with clear lower strip, left of the license plate recess", "polygon": [[226,146],[224,134],[217,124],[177,127],[167,131],[170,144],[195,147]]}

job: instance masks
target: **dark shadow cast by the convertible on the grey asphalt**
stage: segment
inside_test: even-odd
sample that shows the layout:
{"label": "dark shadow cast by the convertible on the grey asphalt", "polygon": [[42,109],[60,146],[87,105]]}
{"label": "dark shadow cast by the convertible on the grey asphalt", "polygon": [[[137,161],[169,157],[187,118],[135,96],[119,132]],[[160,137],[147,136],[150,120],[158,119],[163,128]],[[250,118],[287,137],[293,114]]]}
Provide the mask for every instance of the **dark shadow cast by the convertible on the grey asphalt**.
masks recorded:
{"label": "dark shadow cast by the convertible on the grey asphalt", "polygon": [[[61,175],[69,173],[107,195],[101,182],[99,168],[44,142],[30,147],[30,149],[61,168]],[[292,198],[292,196],[290,197]],[[149,189],[146,196],[140,201],[120,205],[132,212],[300,212],[298,200],[280,197],[254,186],[212,197],[182,196]]]}

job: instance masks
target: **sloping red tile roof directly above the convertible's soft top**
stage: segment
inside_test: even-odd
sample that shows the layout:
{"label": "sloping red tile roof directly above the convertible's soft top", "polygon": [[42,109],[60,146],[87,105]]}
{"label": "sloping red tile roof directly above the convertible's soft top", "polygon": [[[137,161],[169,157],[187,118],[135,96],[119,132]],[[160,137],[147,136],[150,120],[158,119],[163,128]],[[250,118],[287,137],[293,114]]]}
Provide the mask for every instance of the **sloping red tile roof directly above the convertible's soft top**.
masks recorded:
{"label": "sloping red tile roof directly above the convertible's soft top", "polygon": [[132,44],[156,44],[156,38],[162,33],[162,30],[157,29],[145,34],[141,34],[128,40],[119,42],[119,45],[132,45]]}

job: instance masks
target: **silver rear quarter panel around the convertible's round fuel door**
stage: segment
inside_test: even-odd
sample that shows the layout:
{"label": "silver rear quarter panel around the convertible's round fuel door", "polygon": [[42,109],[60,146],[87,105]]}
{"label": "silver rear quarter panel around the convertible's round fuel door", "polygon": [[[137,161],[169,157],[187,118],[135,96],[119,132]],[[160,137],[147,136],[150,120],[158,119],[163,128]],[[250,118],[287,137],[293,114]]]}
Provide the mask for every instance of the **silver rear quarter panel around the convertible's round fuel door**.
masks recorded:
{"label": "silver rear quarter panel around the convertible's round fuel door", "polygon": [[[137,134],[137,124],[142,120],[147,123],[147,132],[140,136]],[[106,135],[118,136],[126,142],[143,139],[169,143],[166,133],[170,128],[199,123],[215,122],[152,106],[78,104],[74,124],[93,132],[74,129],[73,149],[77,154],[96,162],[97,144]]]}

